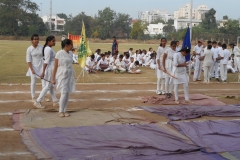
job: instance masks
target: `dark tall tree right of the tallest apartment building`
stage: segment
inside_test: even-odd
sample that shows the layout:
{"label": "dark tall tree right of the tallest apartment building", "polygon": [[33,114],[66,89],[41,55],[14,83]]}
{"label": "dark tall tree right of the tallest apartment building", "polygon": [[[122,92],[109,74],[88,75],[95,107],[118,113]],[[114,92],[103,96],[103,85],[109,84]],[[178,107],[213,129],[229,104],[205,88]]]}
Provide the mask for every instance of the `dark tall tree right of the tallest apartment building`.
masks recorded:
{"label": "dark tall tree right of the tallest apartment building", "polygon": [[215,31],[217,29],[217,22],[215,17],[216,11],[212,8],[205,13],[205,18],[202,20],[201,26],[206,30]]}

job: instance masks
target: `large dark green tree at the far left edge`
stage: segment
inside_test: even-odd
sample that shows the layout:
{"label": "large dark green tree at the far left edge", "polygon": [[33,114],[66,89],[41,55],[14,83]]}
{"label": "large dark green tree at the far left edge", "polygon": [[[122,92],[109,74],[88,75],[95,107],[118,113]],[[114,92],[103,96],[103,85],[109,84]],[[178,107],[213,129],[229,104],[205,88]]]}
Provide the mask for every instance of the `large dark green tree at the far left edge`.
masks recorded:
{"label": "large dark green tree at the far left edge", "polygon": [[33,15],[39,10],[30,0],[0,0],[0,32],[4,35],[28,35]]}

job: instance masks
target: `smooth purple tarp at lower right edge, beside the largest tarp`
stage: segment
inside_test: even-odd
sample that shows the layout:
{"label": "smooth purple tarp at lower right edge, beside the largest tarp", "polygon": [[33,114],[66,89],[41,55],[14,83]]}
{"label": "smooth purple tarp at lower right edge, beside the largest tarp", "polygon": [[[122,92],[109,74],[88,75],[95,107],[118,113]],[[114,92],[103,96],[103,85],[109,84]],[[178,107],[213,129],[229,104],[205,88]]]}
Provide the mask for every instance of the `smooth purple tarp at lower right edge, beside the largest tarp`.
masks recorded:
{"label": "smooth purple tarp at lower right edge, beside the largest tarp", "polygon": [[206,152],[240,151],[240,121],[169,123]]}

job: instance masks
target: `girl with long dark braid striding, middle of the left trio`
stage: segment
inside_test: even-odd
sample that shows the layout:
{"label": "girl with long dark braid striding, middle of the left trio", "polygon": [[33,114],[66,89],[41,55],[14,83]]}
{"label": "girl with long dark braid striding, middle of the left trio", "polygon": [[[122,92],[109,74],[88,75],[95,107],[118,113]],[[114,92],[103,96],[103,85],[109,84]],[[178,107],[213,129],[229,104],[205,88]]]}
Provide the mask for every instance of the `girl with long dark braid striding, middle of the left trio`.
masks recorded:
{"label": "girl with long dark braid striding, middle of the left trio", "polygon": [[45,107],[42,106],[41,101],[46,95],[48,91],[50,91],[50,94],[52,96],[53,100],[53,106],[58,106],[58,99],[56,98],[55,92],[54,92],[54,86],[51,83],[52,79],[52,71],[54,67],[54,60],[55,60],[55,52],[52,49],[53,46],[55,46],[56,40],[54,36],[48,36],[46,39],[46,42],[43,46],[43,57],[44,57],[44,64],[43,64],[43,70],[41,74],[41,79],[45,81],[45,86],[42,89],[39,97],[37,98],[36,102],[34,103],[34,106],[37,108],[44,109]]}

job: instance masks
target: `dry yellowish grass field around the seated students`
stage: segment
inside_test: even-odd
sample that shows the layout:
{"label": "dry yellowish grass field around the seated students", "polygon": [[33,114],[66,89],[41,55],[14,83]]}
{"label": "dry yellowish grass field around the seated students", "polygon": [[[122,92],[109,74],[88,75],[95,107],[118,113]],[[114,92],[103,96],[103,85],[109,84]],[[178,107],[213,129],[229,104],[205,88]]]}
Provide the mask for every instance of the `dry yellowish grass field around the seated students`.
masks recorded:
{"label": "dry yellowish grass field around the seated students", "polygon": [[[43,41],[40,44],[44,44]],[[0,83],[29,83],[30,77],[26,76],[28,65],[26,63],[26,50],[31,45],[30,41],[0,41]],[[100,48],[102,52],[111,51],[111,43],[91,43],[92,51]],[[123,53],[128,51],[129,48],[146,49],[149,47],[157,50],[157,44],[134,44],[134,43],[120,43],[119,51]],[[60,42],[57,42],[53,47],[55,52],[60,50]],[[78,65],[73,66],[76,72],[75,78],[79,76],[82,71]],[[155,71],[141,67],[142,74],[132,75],[128,73],[114,74],[112,72],[99,72],[98,75],[85,74],[85,82],[91,82],[90,78],[95,83],[141,83],[141,82],[156,82]],[[228,82],[236,82],[236,74],[228,74]],[[89,78],[90,77],[90,78]],[[192,78],[191,78],[192,79]],[[203,79],[203,77],[202,77]],[[40,82],[40,80],[38,81]],[[82,82],[80,79],[78,82]]]}

